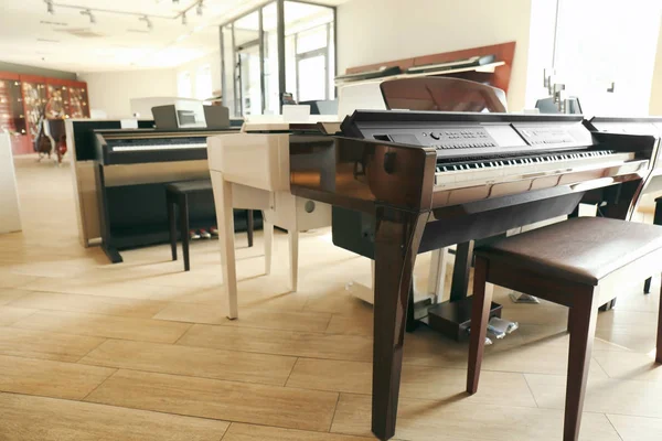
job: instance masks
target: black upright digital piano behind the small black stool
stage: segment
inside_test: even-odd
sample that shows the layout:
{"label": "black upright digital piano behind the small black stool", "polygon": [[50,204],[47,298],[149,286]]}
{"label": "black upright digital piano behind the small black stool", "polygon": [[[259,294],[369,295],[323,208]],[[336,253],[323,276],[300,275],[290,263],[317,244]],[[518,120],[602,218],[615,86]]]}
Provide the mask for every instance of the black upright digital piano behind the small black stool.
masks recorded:
{"label": "black upright digital piano behind the small black stool", "polygon": [[[122,261],[121,249],[168,243],[166,184],[209,179],[206,138],[237,131],[236,128],[94,131],[102,247],[113,263]],[[189,207],[191,228],[214,226],[212,195],[196,197]]]}

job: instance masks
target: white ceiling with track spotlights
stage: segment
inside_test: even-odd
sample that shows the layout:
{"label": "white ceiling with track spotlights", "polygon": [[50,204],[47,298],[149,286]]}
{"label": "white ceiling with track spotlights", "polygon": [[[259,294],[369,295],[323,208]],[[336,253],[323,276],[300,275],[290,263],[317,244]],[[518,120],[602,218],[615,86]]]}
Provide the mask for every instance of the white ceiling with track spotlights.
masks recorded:
{"label": "white ceiling with track spotlights", "polygon": [[[54,14],[44,0],[0,0],[0,61],[76,73],[174,67],[217,51],[217,25],[265,2],[203,0],[203,15],[191,9],[184,25],[178,15],[197,0],[58,0]],[[93,12],[93,24],[64,6],[136,15]],[[150,15],[151,31],[140,14]]]}

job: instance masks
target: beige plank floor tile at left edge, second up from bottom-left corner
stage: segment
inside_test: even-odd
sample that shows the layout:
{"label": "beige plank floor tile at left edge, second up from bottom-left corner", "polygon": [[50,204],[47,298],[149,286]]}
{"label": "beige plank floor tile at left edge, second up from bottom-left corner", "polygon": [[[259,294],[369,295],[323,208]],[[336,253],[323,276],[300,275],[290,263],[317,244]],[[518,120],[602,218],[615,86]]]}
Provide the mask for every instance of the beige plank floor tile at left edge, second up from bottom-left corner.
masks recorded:
{"label": "beige plank floor tile at left edge, second up from bottom-left corner", "polygon": [[115,369],[0,355],[0,390],[82,399]]}

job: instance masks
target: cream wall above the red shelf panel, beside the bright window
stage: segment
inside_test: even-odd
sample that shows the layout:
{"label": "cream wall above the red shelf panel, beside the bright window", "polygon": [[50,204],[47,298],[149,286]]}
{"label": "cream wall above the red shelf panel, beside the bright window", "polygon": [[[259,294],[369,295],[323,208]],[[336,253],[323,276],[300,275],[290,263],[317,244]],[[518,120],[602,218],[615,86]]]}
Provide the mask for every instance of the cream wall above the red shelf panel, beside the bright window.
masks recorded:
{"label": "cream wall above the red shelf panel, beside the bright window", "polygon": [[521,110],[530,15],[531,0],[350,0],[338,8],[338,72],[516,41],[508,101]]}

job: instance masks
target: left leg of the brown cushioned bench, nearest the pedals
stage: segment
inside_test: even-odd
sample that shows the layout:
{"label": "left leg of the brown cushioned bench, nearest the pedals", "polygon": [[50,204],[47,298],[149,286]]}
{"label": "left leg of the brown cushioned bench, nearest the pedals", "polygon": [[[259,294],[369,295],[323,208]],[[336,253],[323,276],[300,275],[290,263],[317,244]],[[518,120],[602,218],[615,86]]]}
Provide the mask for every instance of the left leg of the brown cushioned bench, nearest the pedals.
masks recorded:
{"label": "left leg of the brown cushioned bench, nearest the pedals", "polygon": [[488,335],[488,320],[492,304],[492,284],[488,287],[488,260],[477,256],[473,269],[473,300],[471,303],[471,335],[469,344],[469,370],[467,373],[467,392],[473,395],[478,391],[480,367],[485,336]]}

